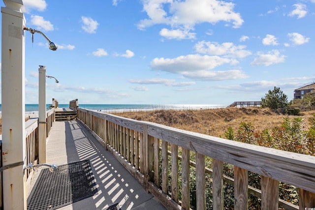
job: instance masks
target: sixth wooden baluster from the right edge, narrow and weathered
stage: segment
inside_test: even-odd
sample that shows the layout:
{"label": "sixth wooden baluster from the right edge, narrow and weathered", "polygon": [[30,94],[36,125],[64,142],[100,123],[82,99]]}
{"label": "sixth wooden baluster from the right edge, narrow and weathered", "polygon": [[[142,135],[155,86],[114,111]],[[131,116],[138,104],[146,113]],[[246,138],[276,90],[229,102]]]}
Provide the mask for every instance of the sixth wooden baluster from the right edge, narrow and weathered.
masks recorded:
{"label": "sixth wooden baluster from the right edge, narrow and weathered", "polygon": [[189,150],[182,148],[182,208],[189,210]]}

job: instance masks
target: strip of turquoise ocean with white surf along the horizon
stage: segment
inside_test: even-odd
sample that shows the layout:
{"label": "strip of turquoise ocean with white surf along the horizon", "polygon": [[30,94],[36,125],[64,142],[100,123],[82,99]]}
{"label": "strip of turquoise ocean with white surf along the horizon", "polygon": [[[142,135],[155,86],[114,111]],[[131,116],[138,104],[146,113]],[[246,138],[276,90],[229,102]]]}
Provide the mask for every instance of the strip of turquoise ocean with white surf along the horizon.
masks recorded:
{"label": "strip of turquoise ocean with white surf along the horizon", "polygon": [[[46,104],[49,110],[51,104]],[[79,108],[94,111],[146,111],[146,110],[198,110],[226,107],[221,104],[79,104]],[[59,108],[69,108],[69,104],[59,104]],[[1,104],[0,104],[1,111]],[[38,104],[25,104],[25,112],[38,112]]]}

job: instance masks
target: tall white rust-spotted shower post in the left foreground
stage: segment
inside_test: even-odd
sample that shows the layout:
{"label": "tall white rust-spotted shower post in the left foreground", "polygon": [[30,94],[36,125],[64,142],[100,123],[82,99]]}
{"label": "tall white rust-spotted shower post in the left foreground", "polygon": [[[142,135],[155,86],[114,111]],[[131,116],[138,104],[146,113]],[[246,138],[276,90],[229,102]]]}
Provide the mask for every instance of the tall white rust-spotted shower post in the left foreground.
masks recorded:
{"label": "tall white rust-spotted shower post in the left foreground", "polygon": [[1,7],[3,209],[26,210],[25,11],[22,0]]}

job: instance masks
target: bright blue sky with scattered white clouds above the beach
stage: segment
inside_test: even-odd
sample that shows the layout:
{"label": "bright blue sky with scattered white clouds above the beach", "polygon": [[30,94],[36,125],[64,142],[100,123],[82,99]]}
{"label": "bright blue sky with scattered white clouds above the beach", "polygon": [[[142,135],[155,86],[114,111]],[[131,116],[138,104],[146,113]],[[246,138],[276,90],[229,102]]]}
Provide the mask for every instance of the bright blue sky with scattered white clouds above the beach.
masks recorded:
{"label": "bright blue sky with scattered white clouds above the beach", "polygon": [[[315,82],[315,0],[23,0],[25,101],[217,104]],[[3,1],[0,6],[4,7]]]}

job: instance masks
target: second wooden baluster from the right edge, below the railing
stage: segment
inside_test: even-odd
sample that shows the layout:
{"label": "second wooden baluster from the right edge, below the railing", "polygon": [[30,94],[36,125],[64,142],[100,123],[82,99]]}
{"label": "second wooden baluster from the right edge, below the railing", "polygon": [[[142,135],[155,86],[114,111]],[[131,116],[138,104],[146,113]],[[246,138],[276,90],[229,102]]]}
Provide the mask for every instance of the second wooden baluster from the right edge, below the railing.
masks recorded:
{"label": "second wooden baluster from the right edge, below the railing", "polygon": [[279,181],[261,176],[261,210],[278,210]]}

